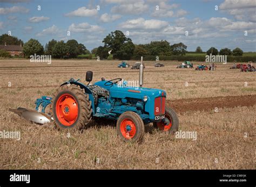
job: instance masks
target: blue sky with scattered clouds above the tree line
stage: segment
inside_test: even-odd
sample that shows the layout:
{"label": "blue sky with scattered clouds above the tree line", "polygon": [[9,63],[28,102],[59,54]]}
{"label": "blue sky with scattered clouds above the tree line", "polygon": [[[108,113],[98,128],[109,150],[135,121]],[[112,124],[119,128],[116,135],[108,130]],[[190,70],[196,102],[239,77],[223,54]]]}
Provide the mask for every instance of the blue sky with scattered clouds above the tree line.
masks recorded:
{"label": "blue sky with scattered clouds above the tree line", "polygon": [[183,42],[188,51],[213,46],[255,52],[255,10],[254,0],[0,0],[0,34],[11,31],[42,45],[76,39],[91,50],[103,45],[108,33],[121,30],[134,44],[167,40]]}

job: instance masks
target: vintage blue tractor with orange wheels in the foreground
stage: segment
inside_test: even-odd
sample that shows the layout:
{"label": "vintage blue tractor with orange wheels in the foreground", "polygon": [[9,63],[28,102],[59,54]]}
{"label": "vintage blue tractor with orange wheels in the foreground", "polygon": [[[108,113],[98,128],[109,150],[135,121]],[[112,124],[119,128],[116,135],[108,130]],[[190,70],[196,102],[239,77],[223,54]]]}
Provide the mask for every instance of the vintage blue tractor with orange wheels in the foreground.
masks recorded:
{"label": "vintage blue tractor with orange wheels in the foreground", "polygon": [[[92,81],[87,71],[86,81]],[[73,78],[60,85],[51,105],[54,124],[58,129],[82,129],[91,119],[116,121],[118,135],[124,141],[141,141],[144,126],[153,123],[162,131],[178,130],[177,113],[166,107],[166,92],[143,88],[143,63],[140,64],[139,86],[128,87],[122,78],[83,84]],[[121,82],[121,84],[120,84]]]}

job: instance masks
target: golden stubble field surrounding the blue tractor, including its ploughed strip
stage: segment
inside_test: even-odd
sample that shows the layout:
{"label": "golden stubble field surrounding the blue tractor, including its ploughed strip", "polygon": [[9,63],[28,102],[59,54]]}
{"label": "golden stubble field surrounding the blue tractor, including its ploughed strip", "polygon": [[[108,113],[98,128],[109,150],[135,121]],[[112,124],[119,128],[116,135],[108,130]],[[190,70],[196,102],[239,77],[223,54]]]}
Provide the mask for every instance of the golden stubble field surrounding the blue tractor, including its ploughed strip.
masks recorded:
{"label": "golden stubble field surrounding the blue tractor, including its ploughed strip", "polygon": [[[217,64],[216,71],[177,69],[180,62],[155,68],[145,62],[144,87],[167,92],[167,105],[179,116],[179,130],[197,139],[177,139],[152,125],[142,143],[118,139],[114,124],[90,124],[82,132],[36,125],[9,108],[35,109],[35,100],[52,96],[69,78],[93,82],[138,80],[138,70],[117,68],[119,61],[0,60],[0,131],[19,131],[21,140],[0,139],[0,169],[255,169],[256,74]],[[129,61],[133,64],[134,61]],[[194,63],[194,66],[199,63]]]}

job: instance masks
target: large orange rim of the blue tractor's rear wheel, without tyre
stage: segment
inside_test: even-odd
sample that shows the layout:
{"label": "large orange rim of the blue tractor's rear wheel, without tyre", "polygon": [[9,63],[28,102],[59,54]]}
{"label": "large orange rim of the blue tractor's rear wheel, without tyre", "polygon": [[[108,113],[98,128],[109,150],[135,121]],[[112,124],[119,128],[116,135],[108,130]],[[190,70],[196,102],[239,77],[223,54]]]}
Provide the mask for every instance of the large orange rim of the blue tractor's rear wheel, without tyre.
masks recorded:
{"label": "large orange rim of the blue tractor's rear wheel, without tyre", "polygon": [[68,93],[60,96],[56,103],[56,116],[62,125],[70,126],[78,117],[78,104],[76,99]]}

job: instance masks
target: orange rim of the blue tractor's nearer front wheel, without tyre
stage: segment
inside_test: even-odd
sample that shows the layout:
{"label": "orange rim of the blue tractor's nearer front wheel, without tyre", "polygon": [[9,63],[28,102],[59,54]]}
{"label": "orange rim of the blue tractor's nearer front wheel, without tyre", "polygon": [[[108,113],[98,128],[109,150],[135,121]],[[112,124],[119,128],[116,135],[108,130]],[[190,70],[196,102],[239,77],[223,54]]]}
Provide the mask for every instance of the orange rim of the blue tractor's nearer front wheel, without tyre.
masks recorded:
{"label": "orange rim of the blue tractor's nearer front wheel, without tyre", "polygon": [[131,139],[136,134],[136,126],[131,119],[123,119],[120,125],[120,131],[124,138]]}

